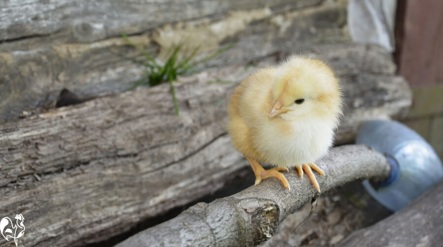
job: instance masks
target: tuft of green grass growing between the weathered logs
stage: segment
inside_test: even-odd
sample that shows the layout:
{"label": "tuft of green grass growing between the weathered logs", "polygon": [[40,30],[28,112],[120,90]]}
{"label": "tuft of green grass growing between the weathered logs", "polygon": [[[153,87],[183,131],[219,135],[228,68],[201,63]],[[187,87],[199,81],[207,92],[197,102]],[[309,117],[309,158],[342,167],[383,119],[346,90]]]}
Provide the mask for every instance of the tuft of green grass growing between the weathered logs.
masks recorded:
{"label": "tuft of green grass growing between the weathered logs", "polygon": [[183,43],[179,43],[169,48],[166,53],[166,61],[164,63],[161,63],[158,62],[154,57],[149,55],[147,51],[134,44],[126,34],[122,34],[122,36],[131,46],[136,48],[138,52],[145,57],[143,61],[125,57],[126,59],[143,66],[145,69],[145,76],[141,80],[136,81],[128,90],[132,90],[141,85],[156,86],[162,82],[169,82],[169,85],[171,87],[172,99],[174,101],[175,114],[177,116],[179,115],[179,107],[175,95],[175,86],[173,83],[177,80],[177,76],[194,73],[195,67],[197,65],[208,62],[209,60],[223,53],[224,51],[232,48],[236,44],[236,42],[231,43],[215,51],[214,53],[193,62],[193,59],[195,58],[199,47],[194,48],[188,55],[185,54],[183,58],[179,58],[179,52],[182,49],[185,49]]}

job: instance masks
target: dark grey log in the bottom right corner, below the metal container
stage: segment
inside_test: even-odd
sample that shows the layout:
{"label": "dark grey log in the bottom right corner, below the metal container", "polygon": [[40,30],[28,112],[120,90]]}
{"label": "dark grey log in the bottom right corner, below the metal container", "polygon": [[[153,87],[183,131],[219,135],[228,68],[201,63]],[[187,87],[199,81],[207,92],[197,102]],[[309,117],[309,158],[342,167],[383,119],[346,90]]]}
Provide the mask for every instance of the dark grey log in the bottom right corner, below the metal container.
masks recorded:
{"label": "dark grey log in the bottom right corner, below the metal container", "polygon": [[441,246],[443,181],[377,224],[355,231],[339,246]]}

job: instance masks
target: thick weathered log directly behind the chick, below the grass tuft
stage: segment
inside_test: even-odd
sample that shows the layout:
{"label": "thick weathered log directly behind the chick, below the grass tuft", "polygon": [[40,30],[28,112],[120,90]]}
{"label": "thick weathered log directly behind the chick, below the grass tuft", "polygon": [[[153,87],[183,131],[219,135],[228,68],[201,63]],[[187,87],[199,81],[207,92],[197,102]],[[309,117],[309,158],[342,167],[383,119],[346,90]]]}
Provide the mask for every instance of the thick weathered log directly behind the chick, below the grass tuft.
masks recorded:
{"label": "thick weathered log directly behind the chick, below the grass tuft", "polygon": [[[338,143],[352,141],[362,119],[406,114],[410,89],[383,50],[334,45],[306,56],[329,61],[342,79],[347,107]],[[225,134],[229,96],[275,63],[268,57],[256,68],[181,78],[178,117],[161,84],[1,125],[0,215],[24,215],[32,229],[20,240],[26,246],[80,246],[218,190],[249,166]]]}

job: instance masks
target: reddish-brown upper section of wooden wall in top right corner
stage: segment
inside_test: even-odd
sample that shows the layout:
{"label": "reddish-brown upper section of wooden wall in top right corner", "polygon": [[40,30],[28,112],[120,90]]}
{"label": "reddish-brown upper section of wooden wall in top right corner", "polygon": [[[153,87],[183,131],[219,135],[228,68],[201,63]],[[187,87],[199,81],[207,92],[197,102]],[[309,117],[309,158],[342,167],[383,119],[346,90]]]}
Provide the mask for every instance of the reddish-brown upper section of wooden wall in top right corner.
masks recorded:
{"label": "reddish-brown upper section of wooden wall in top right corner", "polygon": [[443,2],[407,0],[401,4],[405,12],[397,33],[399,73],[412,86],[443,83]]}

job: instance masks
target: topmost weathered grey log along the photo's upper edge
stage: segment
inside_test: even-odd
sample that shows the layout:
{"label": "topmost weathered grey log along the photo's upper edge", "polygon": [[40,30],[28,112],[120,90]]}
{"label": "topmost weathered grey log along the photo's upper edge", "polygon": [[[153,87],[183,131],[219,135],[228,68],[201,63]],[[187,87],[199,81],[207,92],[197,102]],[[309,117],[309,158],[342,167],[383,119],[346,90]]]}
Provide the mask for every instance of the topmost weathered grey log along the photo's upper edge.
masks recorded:
{"label": "topmost weathered grey log along the photo's upper edge", "polygon": [[63,42],[89,43],[122,32],[145,32],[167,23],[214,15],[220,18],[229,10],[302,8],[321,1],[3,0],[0,5],[0,41],[53,35],[52,38]]}

